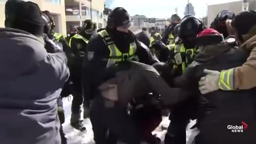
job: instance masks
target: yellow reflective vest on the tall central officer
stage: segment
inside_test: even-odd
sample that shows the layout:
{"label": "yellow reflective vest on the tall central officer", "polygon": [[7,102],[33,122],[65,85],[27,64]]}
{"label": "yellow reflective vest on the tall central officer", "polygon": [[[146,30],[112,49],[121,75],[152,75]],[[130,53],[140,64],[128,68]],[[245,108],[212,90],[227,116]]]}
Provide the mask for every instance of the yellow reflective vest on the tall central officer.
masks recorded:
{"label": "yellow reflective vest on the tall central officer", "polygon": [[121,62],[124,60],[134,60],[138,61],[138,57],[136,57],[135,53],[137,51],[137,45],[135,42],[130,43],[130,50],[129,53],[122,53],[118,50],[116,47],[114,41],[111,39],[109,34],[106,30],[102,30],[98,33],[101,37],[103,37],[105,43],[108,46],[108,49],[110,51],[107,67],[110,67],[115,62]]}

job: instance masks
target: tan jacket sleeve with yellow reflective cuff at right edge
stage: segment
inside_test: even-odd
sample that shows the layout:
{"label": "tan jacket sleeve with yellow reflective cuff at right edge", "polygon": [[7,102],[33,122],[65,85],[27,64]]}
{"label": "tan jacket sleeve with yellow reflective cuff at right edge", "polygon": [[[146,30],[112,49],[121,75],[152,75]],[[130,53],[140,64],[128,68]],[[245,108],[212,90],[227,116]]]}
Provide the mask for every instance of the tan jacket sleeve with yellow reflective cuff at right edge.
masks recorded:
{"label": "tan jacket sleeve with yellow reflective cuff at right edge", "polygon": [[[241,49],[249,51],[250,56],[242,66],[221,71],[219,88],[222,90],[247,90],[256,86],[256,36],[247,40]],[[223,77],[229,77],[229,81]],[[228,86],[222,86],[223,83]]]}

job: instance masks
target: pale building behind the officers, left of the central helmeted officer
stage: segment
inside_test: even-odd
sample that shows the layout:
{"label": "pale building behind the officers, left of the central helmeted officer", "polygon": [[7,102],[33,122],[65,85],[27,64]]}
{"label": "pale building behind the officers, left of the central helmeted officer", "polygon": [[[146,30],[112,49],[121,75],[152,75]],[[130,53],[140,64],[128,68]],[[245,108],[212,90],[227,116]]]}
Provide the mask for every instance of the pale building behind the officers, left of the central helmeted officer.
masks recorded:
{"label": "pale building behind the officers, left of the central helmeted officer", "polygon": [[104,0],[65,0],[67,31],[72,26],[82,26],[83,21],[92,19],[98,28],[103,24]]}

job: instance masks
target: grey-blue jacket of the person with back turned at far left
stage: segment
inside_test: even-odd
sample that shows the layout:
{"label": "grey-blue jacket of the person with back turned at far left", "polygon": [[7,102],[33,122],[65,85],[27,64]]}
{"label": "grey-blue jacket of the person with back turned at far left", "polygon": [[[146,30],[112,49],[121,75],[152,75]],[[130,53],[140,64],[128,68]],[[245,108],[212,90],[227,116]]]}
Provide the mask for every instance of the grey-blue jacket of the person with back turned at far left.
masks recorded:
{"label": "grey-blue jacket of the person with back turned at far left", "polygon": [[66,55],[41,39],[0,28],[0,143],[59,144],[57,98],[69,77]]}

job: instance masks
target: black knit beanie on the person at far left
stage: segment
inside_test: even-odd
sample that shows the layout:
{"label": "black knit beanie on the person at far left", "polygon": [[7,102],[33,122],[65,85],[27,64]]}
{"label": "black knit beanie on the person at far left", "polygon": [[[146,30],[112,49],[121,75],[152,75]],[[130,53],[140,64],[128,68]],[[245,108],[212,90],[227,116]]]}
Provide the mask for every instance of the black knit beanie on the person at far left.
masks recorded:
{"label": "black knit beanie on the person at far left", "polygon": [[38,5],[32,2],[9,0],[5,4],[5,26],[43,36],[44,21]]}

